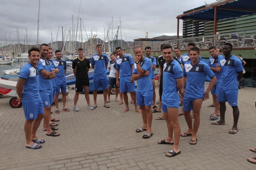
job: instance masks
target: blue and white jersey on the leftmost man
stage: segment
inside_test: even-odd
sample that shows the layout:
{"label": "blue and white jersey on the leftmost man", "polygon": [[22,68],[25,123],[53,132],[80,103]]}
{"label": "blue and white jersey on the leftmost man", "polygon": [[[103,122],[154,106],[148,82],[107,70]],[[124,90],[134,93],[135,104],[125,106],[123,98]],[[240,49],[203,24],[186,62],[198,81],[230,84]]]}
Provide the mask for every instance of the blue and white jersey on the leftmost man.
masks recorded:
{"label": "blue and white jersey on the leftmost man", "polygon": [[26,79],[23,85],[22,102],[41,100],[39,95],[39,72],[37,68],[27,63],[20,69],[19,77]]}

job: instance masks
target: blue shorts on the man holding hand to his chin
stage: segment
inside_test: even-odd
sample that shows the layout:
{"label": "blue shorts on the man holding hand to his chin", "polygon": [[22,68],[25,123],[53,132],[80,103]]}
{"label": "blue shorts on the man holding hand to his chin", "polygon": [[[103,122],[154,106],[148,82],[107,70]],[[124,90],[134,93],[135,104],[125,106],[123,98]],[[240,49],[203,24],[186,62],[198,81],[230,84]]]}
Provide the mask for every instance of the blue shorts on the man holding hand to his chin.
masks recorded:
{"label": "blue shorts on the man holding hand to his chin", "polygon": [[151,106],[153,101],[153,90],[136,93],[136,102],[138,106]]}

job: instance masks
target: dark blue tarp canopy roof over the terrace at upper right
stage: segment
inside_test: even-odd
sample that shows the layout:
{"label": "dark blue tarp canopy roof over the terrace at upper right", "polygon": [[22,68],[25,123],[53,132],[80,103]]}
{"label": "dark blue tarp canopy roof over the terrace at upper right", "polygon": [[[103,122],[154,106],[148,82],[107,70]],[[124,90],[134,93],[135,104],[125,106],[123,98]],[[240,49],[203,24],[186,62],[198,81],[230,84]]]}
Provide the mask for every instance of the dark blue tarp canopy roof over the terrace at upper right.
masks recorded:
{"label": "dark blue tarp canopy roof over the terrace at upper right", "polygon": [[[224,1],[225,2],[225,1]],[[214,20],[214,6],[217,7],[217,20],[241,17],[243,15],[256,14],[256,1],[255,0],[236,0],[232,2],[227,2],[221,5],[210,5],[209,8],[194,12],[192,14],[187,14],[180,16],[179,19],[192,19],[192,20]],[[186,13],[185,13],[186,14]]]}

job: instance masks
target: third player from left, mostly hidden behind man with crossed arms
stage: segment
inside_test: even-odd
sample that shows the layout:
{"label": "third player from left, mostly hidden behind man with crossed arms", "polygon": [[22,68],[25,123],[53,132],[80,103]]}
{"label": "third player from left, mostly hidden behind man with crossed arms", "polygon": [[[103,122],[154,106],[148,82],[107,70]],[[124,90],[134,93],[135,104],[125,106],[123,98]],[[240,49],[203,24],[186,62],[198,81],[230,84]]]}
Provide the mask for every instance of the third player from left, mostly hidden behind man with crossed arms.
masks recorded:
{"label": "third player from left, mostly hidden behind man with crossed arms", "polygon": [[[51,67],[52,67],[52,70],[55,71],[55,73],[59,73],[59,69],[53,64],[53,62],[52,62],[52,60],[51,60],[52,54],[53,54],[52,52],[53,52],[52,48],[49,47],[48,54],[47,54],[47,56],[46,56],[45,58],[49,61],[50,65],[51,65]],[[55,77],[54,77],[53,79],[51,79],[51,83],[52,83],[52,88],[53,88],[53,94],[52,94],[53,103],[51,103],[51,107],[53,107],[53,106],[55,106],[55,102],[54,102],[54,98],[55,98],[55,88],[56,88],[56,79],[55,79]],[[52,113],[52,112],[51,112],[51,113]],[[55,118],[53,118],[52,116],[50,116],[50,120],[51,120],[52,122],[58,122],[58,121],[59,121],[59,119],[55,119]],[[58,128],[57,128],[57,129],[54,128],[54,129],[57,130]]]}

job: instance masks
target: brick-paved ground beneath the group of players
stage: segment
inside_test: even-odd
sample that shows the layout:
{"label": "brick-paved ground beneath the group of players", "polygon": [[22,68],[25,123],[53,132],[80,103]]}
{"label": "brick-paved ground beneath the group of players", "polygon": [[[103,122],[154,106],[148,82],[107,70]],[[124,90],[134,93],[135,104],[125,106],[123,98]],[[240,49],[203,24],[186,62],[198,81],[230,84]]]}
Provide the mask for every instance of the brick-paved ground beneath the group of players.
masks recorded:
{"label": "brick-paved ground beneath the group of players", "polygon": [[[41,124],[38,137],[46,142],[41,149],[26,149],[23,109],[11,108],[10,97],[4,96],[0,98],[0,169],[255,169],[255,164],[247,162],[247,158],[256,156],[248,149],[256,147],[255,96],[254,88],[239,90],[239,132],[235,135],[228,134],[233,123],[231,107],[227,107],[226,125],[211,125],[208,115],[214,108],[207,107],[211,100],[205,101],[197,145],[189,145],[189,137],[181,138],[182,153],[174,158],[165,156],[171,146],[157,144],[159,139],[167,137],[164,120],[154,119],[154,135],[143,139],[142,133],[135,132],[142,125],[142,118],[133,106],[123,113],[125,105],[118,105],[111,95],[111,108],[106,109],[103,95],[99,94],[97,109],[90,111],[86,109],[84,96],[80,95],[80,110],[74,112],[74,90],[67,99],[71,111],[53,114],[60,119],[61,135],[46,136]],[[90,99],[93,101],[92,94]],[[153,117],[161,114],[154,113]],[[179,123],[185,132],[184,116],[179,116]]]}

